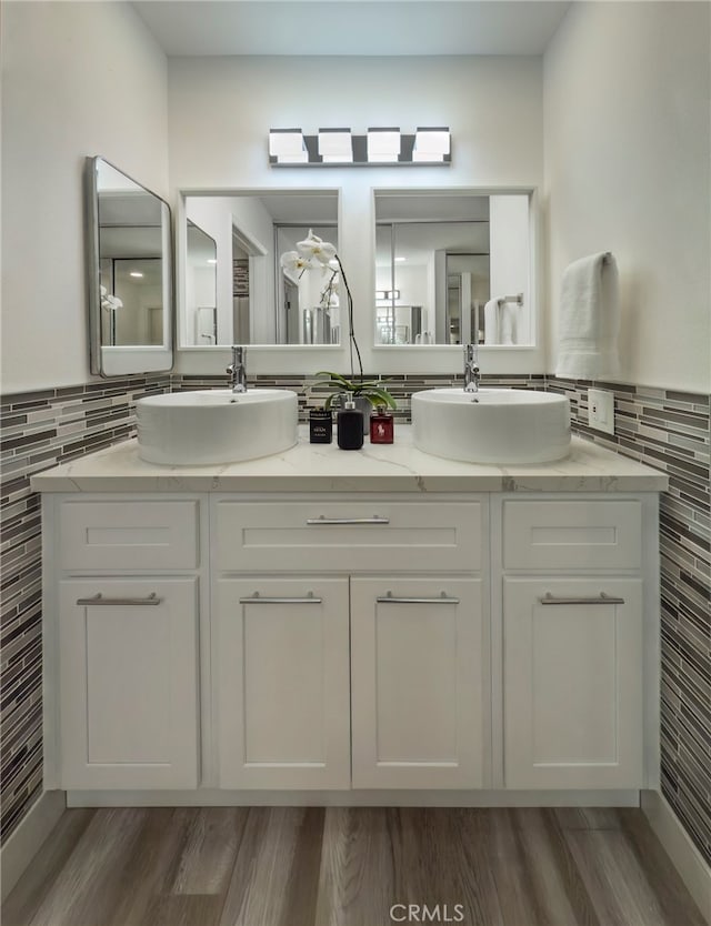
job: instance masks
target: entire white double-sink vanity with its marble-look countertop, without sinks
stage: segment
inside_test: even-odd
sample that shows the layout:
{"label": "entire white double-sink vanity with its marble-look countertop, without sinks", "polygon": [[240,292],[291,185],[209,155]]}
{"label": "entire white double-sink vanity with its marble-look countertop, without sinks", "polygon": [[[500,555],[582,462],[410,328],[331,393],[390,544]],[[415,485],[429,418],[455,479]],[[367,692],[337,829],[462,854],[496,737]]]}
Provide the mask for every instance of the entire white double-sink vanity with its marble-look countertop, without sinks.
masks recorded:
{"label": "entire white double-sink vanity with its marble-look countertop, without sinks", "polygon": [[633,803],[659,775],[665,476],[582,441],[519,470],[400,429],[219,471],[124,444],[34,476],[46,787]]}

